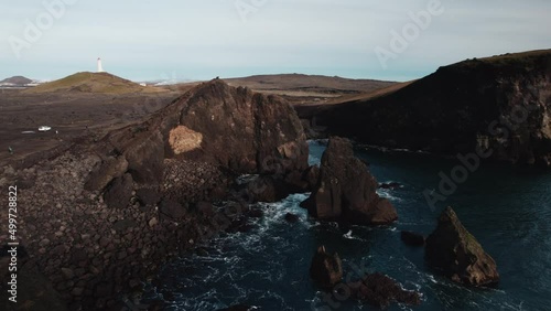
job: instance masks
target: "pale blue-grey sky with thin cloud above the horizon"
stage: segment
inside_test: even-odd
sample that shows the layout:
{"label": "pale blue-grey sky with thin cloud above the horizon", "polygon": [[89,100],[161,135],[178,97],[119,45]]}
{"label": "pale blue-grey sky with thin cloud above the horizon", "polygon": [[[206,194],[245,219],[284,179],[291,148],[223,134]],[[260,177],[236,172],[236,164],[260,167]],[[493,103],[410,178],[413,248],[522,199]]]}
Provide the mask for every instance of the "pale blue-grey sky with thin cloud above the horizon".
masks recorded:
{"label": "pale blue-grey sky with thin cloud above the horizon", "polygon": [[0,79],[104,68],[132,81],[303,73],[409,81],[551,49],[549,0],[0,2]]}

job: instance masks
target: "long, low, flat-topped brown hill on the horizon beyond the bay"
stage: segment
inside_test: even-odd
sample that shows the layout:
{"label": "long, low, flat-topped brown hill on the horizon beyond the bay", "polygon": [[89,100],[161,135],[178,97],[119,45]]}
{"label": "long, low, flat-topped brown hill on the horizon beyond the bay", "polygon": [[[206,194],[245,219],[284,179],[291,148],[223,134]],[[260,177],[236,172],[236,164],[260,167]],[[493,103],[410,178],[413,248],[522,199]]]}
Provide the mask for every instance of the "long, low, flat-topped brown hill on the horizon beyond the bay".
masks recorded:
{"label": "long, low, flat-topped brown hill on the horizon beyond the bay", "polygon": [[256,90],[304,90],[338,94],[370,93],[396,84],[376,79],[350,79],[338,76],[280,74],[225,78],[231,86],[247,86]]}

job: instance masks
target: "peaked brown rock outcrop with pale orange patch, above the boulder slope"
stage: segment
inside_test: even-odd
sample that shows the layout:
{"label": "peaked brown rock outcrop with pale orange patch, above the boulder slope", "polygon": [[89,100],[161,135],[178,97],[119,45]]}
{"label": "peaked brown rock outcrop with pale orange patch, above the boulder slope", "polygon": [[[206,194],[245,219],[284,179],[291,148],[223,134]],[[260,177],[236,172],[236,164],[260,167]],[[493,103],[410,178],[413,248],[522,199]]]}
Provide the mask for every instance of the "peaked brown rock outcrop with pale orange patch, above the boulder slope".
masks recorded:
{"label": "peaked brown rock outcrop with pale orange patch, above the boulder slope", "polygon": [[137,187],[160,185],[172,159],[208,162],[234,174],[263,174],[273,181],[273,191],[261,196],[274,200],[295,191],[307,169],[307,143],[293,108],[280,97],[219,79],[193,88],[143,124],[111,132],[101,143],[98,149],[108,154],[101,154],[105,160],[88,178],[89,190],[105,190],[125,173]]}

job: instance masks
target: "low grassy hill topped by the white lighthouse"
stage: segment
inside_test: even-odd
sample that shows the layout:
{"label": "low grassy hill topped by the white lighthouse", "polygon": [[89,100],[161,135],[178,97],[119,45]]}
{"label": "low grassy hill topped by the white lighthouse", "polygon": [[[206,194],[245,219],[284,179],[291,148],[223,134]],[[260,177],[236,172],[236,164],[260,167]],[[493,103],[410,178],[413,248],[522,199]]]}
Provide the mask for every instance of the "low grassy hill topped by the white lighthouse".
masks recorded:
{"label": "low grassy hill topped by the white lighthouse", "polygon": [[76,73],[62,79],[41,84],[24,90],[28,94],[52,92],[80,92],[100,94],[158,93],[164,89],[141,86],[109,73]]}

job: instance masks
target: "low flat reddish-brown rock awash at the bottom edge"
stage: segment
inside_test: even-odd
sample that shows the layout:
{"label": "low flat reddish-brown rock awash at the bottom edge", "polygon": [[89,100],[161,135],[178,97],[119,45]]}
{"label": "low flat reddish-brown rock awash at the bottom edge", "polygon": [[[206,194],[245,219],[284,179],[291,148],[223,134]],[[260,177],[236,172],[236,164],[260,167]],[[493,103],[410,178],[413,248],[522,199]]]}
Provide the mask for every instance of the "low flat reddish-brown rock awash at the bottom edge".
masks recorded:
{"label": "low flat reddish-brown rock awash at the bottom edge", "polygon": [[361,280],[348,283],[347,287],[353,298],[379,309],[387,309],[395,301],[407,305],[421,303],[421,296],[418,292],[403,289],[397,281],[379,272],[366,275]]}

